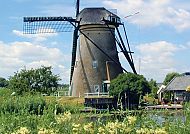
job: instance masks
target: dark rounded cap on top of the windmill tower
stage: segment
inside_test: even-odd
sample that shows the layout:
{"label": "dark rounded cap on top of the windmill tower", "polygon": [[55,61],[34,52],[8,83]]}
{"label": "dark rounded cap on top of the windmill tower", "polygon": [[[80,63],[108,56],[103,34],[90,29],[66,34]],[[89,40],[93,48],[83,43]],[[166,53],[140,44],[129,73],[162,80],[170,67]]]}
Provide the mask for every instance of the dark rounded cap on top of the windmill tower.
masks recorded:
{"label": "dark rounded cap on top of the windmill tower", "polygon": [[104,24],[102,21],[110,20],[110,17],[120,22],[120,18],[114,13],[108,11],[105,8],[84,8],[77,16],[77,21],[80,21],[80,25],[86,24]]}

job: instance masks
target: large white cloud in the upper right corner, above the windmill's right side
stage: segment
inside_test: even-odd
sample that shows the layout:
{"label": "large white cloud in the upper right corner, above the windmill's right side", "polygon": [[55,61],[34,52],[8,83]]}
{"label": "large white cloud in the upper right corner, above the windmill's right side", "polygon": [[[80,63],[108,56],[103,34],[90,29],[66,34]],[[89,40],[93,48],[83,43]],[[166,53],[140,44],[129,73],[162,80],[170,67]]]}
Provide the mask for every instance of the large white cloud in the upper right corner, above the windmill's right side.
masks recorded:
{"label": "large white cloud in the upper right corner, above the windmill's right side", "polygon": [[[190,29],[190,12],[182,9],[179,4],[171,0],[105,0],[104,4],[118,9],[121,16],[140,12],[140,14],[129,17],[130,23],[142,26],[158,26],[167,24],[173,26],[177,31]],[[174,7],[175,5],[175,7]]]}

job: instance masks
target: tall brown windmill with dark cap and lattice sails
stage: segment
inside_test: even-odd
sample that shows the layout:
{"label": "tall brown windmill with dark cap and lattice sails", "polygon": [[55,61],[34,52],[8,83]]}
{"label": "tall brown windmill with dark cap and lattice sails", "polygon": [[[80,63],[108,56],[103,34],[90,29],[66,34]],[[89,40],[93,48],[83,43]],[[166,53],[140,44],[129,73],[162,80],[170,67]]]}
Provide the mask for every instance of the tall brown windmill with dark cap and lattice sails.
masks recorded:
{"label": "tall brown windmill with dark cap and lattice sails", "polygon": [[[72,96],[90,92],[107,92],[110,80],[123,71],[117,46],[121,49],[131,69],[136,73],[132,52],[124,24],[120,18],[105,8],[84,8],[79,12],[76,1],[76,18],[24,17],[24,33],[73,32],[70,93]],[[119,31],[122,26],[128,49]],[[117,32],[117,36],[116,36]]]}

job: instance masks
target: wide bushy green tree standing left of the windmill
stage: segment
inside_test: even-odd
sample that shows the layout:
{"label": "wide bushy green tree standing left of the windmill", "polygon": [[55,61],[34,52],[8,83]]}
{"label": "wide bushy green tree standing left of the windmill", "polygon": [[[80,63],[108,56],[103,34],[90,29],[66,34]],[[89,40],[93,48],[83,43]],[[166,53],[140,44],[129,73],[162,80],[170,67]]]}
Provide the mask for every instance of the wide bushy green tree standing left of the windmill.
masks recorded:
{"label": "wide bushy green tree standing left of the windmill", "polygon": [[51,71],[52,67],[42,66],[37,69],[22,69],[10,77],[9,87],[18,94],[24,92],[40,92],[50,94],[57,90],[58,75]]}

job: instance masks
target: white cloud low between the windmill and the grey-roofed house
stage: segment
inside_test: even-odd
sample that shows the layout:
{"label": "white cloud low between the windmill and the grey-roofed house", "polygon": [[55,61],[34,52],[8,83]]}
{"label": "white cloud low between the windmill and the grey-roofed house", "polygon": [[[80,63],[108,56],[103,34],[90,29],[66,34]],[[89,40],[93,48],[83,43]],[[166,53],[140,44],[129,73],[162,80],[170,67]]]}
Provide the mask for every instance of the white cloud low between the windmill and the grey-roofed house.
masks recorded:
{"label": "white cloud low between the windmill and the grey-roofed house", "polygon": [[[175,44],[159,41],[141,44],[136,49],[140,55],[139,59],[136,58],[135,61],[140,60],[140,72],[145,77],[154,78],[162,82],[168,72],[176,71],[174,54],[180,48]],[[136,63],[136,65],[139,70],[139,63]]]}

